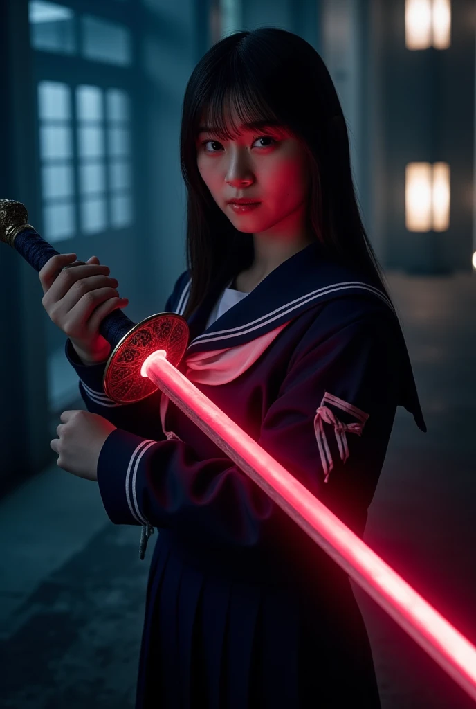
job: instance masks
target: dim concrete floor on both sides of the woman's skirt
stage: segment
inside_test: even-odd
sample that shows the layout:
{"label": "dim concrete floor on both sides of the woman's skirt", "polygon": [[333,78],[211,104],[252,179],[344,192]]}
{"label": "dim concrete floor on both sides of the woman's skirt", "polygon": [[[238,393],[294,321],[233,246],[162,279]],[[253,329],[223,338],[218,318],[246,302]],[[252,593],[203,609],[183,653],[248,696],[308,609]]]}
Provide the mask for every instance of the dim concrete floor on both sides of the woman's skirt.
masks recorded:
{"label": "dim concrete floor on both sides of the woman's skirt", "polygon": [[[364,538],[476,644],[476,277],[389,283],[429,430],[397,412]],[[132,709],[151,556],[140,562],[139,535],[56,466],[0,501],[1,708]],[[353,588],[383,709],[475,707]]]}

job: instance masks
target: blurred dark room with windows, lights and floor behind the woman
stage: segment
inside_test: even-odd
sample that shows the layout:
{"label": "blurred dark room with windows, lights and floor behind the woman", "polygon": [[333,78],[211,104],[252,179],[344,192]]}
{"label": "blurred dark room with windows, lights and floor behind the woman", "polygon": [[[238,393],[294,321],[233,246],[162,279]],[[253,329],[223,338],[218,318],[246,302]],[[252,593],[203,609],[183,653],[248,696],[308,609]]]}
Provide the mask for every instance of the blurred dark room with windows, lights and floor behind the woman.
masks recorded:
{"label": "blurred dark room with windows, lights and floor behind the woman", "polygon": [[[179,130],[193,67],[259,26],[322,55],[429,429],[397,412],[364,539],[476,643],[476,3],[1,7],[0,196],[25,203],[58,251],[107,264],[137,322],[164,308],[186,267]],[[56,465],[60,414],[85,407],[38,274],[7,247],[0,289],[0,706],[132,709],[150,545],[140,562],[139,528],[112,525],[97,485]],[[382,708],[475,705],[353,588]]]}

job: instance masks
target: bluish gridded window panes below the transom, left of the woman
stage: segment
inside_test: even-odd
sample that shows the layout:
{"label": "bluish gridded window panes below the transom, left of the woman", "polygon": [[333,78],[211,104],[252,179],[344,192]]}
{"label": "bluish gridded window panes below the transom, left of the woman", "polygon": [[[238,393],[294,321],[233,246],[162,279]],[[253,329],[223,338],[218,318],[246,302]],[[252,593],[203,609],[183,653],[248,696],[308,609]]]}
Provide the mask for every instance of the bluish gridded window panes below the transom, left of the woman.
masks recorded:
{"label": "bluish gridded window panes below the transom, left of the woman", "polygon": [[73,118],[67,84],[38,84],[43,228],[50,242],[132,223],[129,96],[82,85],[75,100]]}

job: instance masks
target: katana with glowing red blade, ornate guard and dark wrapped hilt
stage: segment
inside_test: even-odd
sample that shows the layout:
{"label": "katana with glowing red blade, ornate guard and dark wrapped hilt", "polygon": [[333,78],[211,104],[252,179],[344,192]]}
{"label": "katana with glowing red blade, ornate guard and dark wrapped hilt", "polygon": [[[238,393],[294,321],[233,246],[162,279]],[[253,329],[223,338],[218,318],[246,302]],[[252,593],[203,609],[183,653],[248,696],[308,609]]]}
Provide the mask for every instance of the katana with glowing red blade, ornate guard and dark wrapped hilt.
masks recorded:
{"label": "katana with glowing red blade, ornate guard and dark wrapped hilt", "polygon": [[[0,241],[39,272],[58,252],[27,221],[23,204],[0,200]],[[116,310],[100,333],[113,348],[103,376],[111,399],[128,404],[163,391],[476,700],[476,647],[176,369],[188,346],[184,318],[158,313],[135,325]]]}

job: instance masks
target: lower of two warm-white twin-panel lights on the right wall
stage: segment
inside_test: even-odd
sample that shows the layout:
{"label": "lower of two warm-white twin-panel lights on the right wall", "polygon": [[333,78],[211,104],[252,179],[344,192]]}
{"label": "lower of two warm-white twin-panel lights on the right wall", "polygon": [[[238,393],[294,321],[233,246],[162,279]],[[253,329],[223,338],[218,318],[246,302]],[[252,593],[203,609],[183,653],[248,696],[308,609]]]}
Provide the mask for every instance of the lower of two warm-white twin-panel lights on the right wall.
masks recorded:
{"label": "lower of two warm-white twin-panel lights on the right wall", "polygon": [[450,225],[450,167],[410,162],[405,169],[405,225],[409,231],[446,231]]}

